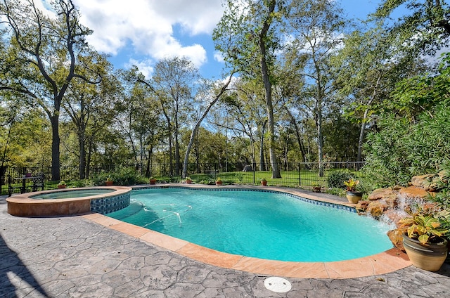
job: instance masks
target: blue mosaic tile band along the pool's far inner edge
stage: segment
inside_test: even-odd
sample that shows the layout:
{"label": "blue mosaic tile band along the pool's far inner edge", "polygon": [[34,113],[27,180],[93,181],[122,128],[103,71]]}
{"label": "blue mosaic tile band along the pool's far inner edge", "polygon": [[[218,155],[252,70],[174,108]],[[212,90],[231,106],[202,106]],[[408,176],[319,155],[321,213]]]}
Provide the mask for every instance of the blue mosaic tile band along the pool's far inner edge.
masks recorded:
{"label": "blue mosaic tile band along the pool's far inner edge", "polygon": [[330,203],[330,202],[322,202],[319,200],[308,199],[307,197],[300,197],[300,195],[293,195],[292,193],[284,193],[283,191],[277,190],[266,190],[266,189],[251,189],[251,188],[195,188],[195,187],[184,187],[184,186],[153,186],[153,187],[140,187],[133,188],[134,190],[142,190],[142,189],[152,189],[152,188],[181,188],[181,189],[193,189],[193,190],[204,190],[204,191],[259,191],[262,193],[277,193],[281,195],[288,195],[289,197],[293,197],[297,200],[301,200],[303,202],[307,202],[314,205],[325,206],[330,208],[342,209],[347,212],[356,213],[356,209],[354,207],[349,207],[345,205]]}

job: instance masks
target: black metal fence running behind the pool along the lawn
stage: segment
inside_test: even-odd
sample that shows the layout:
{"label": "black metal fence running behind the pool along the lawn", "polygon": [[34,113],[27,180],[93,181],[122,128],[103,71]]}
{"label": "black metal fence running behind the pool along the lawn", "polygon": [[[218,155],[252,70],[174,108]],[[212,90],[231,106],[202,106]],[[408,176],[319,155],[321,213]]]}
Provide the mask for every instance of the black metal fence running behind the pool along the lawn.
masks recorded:
{"label": "black metal fence running behind the pool along the lawn", "polygon": [[[154,176],[160,182],[179,182],[186,177],[181,176],[181,165],[176,164],[149,164],[141,163],[143,166],[136,164],[132,168],[144,177]],[[321,186],[327,186],[327,178],[333,171],[346,169],[354,178],[361,178],[361,167],[364,162],[324,162],[323,176],[319,175],[318,162],[285,162],[278,165],[281,178],[271,178],[272,172],[270,164],[231,164],[231,163],[215,163],[215,164],[188,164],[187,176],[190,176],[195,183],[214,183],[217,177],[220,177],[224,183],[240,183],[240,184],[259,184],[261,179],[266,179],[272,186],[312,186],[315,183]],[[265,169],[264,169],[265,168]],[[85,171],[93,178],[96,174],[105,171],[115,171],[115,167],[91,167]],[[51,167],[1,167],[0,169],[0,190],[1,195],[8,193],[8,187],[20,188],[23,185],[24,176],[36,176],[44,174],[46,189],[54,188],[55,183],[51,177]],[[64,181],[79,180],[79,166],[60,167],[60,179]],[[28,183],[25,181],[25,183]],[[31,183],[31,181],[30,181]]]}

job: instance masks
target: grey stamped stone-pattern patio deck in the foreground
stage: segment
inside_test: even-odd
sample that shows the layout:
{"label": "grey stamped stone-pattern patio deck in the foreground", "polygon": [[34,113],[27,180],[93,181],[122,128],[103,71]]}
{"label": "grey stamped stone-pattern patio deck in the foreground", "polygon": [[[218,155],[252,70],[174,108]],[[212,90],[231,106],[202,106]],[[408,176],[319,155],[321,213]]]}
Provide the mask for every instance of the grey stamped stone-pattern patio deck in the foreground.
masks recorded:
{"label": "grey stamped stone-pattern patio deck in the foreground", "polygon": [[[100,218],[15,217],[6,212],[2,197],[0,297],[449,297],[449,264],[437,273],[407,266],[359,278],[292,278],[280,271],[278,276],[293,288],[271,292],[264,279],[274,274],[236,270],[226,266],[234,260],[223,257],[219,259],[225,265],[206,264],[186,257],[202,256],[199,247],[156,245],[143,237],[147,232],[141,228],[129,229],[121,222],[99,224]],[[359,267],[346,270],[352,273]],[[295,271],[307,269],[297,266]]]}

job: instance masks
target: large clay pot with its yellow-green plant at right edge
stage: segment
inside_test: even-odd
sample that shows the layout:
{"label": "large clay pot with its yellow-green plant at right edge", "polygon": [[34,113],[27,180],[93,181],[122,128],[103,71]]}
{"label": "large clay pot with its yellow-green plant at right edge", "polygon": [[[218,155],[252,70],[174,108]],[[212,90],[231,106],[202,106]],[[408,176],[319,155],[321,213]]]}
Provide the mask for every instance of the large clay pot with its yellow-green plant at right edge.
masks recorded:
{"label": "large clay pot with its yellow-green plant at right edge", "polygon": [[438,271],[447,257],[449,228],[431,212],[409,212],[400,220],[403,246],[411,263],[427,271]]}

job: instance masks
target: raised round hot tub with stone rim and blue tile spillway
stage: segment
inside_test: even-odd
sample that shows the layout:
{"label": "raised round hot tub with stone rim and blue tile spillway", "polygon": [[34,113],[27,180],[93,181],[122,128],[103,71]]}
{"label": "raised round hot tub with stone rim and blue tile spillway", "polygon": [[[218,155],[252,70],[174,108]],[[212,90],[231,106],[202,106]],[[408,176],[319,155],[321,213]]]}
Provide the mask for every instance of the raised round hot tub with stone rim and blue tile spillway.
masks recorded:
{"label": "raised round hot tub with stone rim and blue tile spillway", "polygon": [[131,188],[100,186],[23,193],[8,197],[8,213],[15,216],[107,214],[129,205]]}

